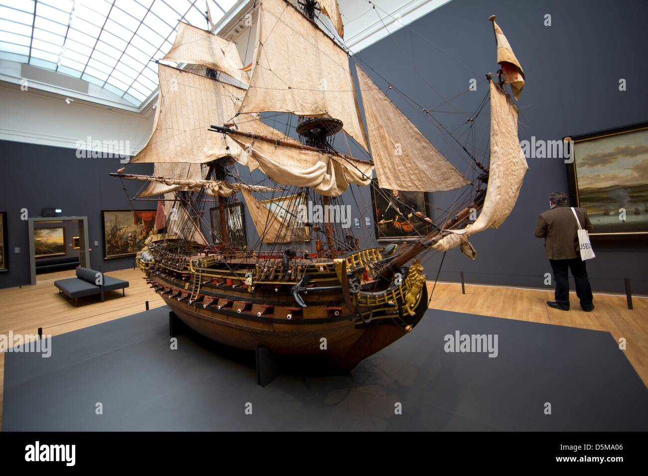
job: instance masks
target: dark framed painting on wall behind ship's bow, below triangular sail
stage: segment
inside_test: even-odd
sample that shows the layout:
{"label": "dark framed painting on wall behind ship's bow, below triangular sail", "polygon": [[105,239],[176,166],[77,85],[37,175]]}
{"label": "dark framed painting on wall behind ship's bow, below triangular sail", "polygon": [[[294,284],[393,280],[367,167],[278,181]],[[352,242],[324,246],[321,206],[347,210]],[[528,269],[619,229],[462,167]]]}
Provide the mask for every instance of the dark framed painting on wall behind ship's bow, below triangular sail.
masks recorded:
{"label": "dark framed painting on wall behind ship's bow, below triangular sail", "polygon": [[430,225],[412,217],[413,212],[430,216],[426,192],[402,192],[371,187],[376,240],[415,240],[430,232]]}

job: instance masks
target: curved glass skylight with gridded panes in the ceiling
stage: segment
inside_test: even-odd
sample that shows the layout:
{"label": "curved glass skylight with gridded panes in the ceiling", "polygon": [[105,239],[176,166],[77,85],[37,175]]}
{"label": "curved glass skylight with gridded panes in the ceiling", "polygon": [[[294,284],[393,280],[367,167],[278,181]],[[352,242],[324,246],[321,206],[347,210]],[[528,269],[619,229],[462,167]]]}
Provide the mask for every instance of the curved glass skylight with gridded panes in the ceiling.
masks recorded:
{"label": "curved glass skylight with gridded panes in the ceiling", "polygon": [[0,0],[0,59],[68,74],[141,106],[180,20],[207,28],[236,0]]}

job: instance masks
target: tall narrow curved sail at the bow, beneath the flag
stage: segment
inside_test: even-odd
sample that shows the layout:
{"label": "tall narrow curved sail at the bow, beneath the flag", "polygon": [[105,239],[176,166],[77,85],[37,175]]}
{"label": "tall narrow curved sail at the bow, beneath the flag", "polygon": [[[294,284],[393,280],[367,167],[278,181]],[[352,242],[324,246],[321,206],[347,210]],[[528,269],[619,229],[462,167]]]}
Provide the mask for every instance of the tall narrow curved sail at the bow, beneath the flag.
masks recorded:
{"label": "tall narrow curved sail at the bow, beneath the flag", "polygon": [[518,140],[518,110],[509,95],[492,80],[491,85],[491,165],[488,188],[480,216],[469,227],[452,230],[435,249],[447,249],[462,244],[456,235],[470,236],[487,228],[502,225],[513,210],[522,180],[526,174],[527,162]]}

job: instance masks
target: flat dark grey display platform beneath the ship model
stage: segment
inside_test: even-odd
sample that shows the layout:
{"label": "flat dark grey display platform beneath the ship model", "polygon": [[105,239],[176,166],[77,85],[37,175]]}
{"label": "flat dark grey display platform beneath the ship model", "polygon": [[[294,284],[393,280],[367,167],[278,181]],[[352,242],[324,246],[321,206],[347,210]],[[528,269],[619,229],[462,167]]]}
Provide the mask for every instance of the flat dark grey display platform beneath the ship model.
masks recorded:
{"label": "flat dark grey display platform beneath the ship model", "polygon": [[[49,358],[5,354],[3,430],[648,429],[648,390],[608,332],[429,310],[351,374],[262,388],[253,352],[195,335],[171,350],[168,323],[157,308],[58,335]],[[498,356],[445,352],[457,330],[497,335]]]}

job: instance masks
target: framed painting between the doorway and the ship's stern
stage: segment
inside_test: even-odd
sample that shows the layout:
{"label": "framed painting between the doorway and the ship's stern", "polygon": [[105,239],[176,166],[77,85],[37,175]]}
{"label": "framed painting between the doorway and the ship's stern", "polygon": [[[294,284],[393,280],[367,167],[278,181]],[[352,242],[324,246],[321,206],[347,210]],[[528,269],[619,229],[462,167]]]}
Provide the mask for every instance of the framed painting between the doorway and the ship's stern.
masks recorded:
{"label": "framed painting between the doorway and the ship's stern", "polygon": [[102,210],[104,260],[134,256],[156,224],[156,210]]}

